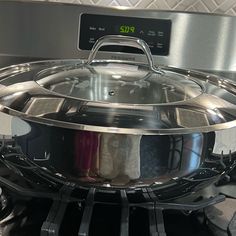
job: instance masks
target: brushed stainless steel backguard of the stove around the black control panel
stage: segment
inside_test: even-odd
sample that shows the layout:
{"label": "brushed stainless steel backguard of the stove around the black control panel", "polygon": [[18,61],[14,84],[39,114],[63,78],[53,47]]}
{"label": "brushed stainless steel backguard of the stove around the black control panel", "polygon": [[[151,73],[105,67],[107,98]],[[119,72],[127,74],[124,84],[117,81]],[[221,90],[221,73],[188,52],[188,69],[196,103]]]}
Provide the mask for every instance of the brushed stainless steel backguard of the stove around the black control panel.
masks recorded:
{"label": "brushed stainless steel backguard of the stove around the black control panel", "polygon": [[[169,55],[154,56],[155,64],[236,71],[236,17],[35,1],[0,1],[0,32],[4,32],[0,36],[0,55],[11,58],[1,64],[16,63],[16,56],[22,60],[31,57],[31,61],[32,58],[87,58],[89,52],[77,46],[82,13],[170,19]],[[97,58],[146,60],[143,55],[112,52],[99,52]]]}

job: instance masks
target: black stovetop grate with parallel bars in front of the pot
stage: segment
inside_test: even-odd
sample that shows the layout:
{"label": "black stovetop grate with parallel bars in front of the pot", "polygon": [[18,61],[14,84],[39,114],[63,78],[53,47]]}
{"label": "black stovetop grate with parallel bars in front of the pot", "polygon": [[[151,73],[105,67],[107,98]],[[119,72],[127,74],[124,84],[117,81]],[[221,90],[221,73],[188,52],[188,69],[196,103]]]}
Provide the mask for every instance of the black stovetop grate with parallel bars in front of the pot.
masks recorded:
{"label": "black stovetop grate with parallel bars in front of the pot", "polygon": [[[70,194],[73,188],[65,191]],[[150,200],[148,191],[144,195]],[[121,203],[96,202],[96,189],[89,190],[87,199],[67,201],[66,194],[59,199],[32,198],[19,200],[12,216],[0,221],[5,236],[210,236],[206,225],[197,220],[199,212],[189,213],[206,205],[221,201],[222,197],[200,200],[188,205],[147,202],[129,205],[125,191],[120,192]],[[148,197],[149,196],[149,197]],[[13,199],[12,197],[10,199]],[[17,210],[17,205],[19,209]],[[164,210],[175,208],[176,210]],[[189,211],[187,211],[189,209]],[[184,210],[185,214],[179,210]],[[12,225],[11,225],[12,224]],[[10,227],[11,225],[11,227]],[[7,233],[6,233],[7,232]]]}

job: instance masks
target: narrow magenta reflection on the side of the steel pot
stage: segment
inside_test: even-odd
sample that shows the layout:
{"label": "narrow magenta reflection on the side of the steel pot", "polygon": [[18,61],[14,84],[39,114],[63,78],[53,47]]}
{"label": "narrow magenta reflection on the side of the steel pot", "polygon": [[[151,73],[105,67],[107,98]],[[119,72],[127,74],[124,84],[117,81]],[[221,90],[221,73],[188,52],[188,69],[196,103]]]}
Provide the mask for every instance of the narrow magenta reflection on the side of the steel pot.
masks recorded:
{"label": "narrow magenta reflection on the side of the steel pot", "polygon": [[99,134],[77,131],[75,134],[75,168],[80,180],[94,182],[98,172]]}

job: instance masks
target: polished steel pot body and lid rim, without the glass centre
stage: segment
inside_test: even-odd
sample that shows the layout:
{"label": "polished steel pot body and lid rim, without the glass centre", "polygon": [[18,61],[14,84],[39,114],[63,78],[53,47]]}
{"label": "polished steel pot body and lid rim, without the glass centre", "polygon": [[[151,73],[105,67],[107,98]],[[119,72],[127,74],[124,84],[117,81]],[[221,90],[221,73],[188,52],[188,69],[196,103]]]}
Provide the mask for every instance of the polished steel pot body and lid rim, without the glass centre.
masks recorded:
{"label": "polished steel pot body and lid rim, without the glass centre", "polygon": [[22,176],[35,169],[80,186],[151,187],[170,199],[213,183],[236,165],[230,148],[214,153],[216,135],[235,126],[232,81],[161,67],[165,76],[172,73],[177,80],[179,75],[201,85],[202,93],[172,103],[136,105],[84,101],[35,81],[40,79],[36,75],[46,73],[41,79],[47,81],[64,73],[58,70],[73,71],[85,62],[34,62],[0,71],[0,120],[8,120],[8,129],[0,128],[0,159],[8,168]]}

